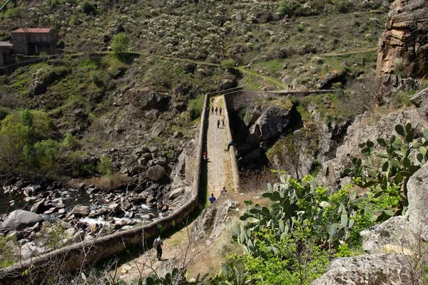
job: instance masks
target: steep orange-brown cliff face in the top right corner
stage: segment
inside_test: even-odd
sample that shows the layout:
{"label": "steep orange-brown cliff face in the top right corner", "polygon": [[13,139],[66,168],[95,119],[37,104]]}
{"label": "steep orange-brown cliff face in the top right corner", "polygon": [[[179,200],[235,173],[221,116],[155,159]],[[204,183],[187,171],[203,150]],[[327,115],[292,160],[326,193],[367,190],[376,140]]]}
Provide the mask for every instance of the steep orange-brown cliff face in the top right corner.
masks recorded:
{"label": "steep orange-brown cliff face in the top right corner", "polygon": [[428,74],[428,1],[396,0],[382,33],[377,57],[377,76],[394,72],[402,60],[402,71],[419,77]]}

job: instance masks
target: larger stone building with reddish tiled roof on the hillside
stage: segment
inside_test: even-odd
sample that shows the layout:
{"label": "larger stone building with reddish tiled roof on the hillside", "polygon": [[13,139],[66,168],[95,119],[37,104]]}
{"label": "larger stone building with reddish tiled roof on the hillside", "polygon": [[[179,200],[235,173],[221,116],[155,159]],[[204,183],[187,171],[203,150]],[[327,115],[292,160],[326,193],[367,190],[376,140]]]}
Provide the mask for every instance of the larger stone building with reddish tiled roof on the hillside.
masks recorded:
{"label": "larger stone building with reddish tiled roof on the hillside", "polygon": [[56,33],[53,28],[19,28],[12,32],[12,44],[16,54],[56,54]]}

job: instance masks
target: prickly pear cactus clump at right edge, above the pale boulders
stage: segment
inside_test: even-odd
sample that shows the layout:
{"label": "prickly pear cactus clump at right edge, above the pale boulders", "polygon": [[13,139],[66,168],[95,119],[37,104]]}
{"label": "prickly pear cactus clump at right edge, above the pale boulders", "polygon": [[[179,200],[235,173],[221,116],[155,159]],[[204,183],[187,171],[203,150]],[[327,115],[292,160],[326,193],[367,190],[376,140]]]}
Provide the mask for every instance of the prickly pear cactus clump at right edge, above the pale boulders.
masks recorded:
{"label": "prickly pear cactus clump at right edge, above the pale boulders", "polygon": [[358,146],[364,159],[354,157],[354,166],[344,172],[353,177],[356,185],[370,188],[374,199],[384,201],[385,211],[378,219],[386,219],[405,210],[408,204],[407,181],[428,160],[428,129],[424,130],[422,138],[416,140],[411,123],[396,125],[395,131],[398,138],[392,135],[389,140],[377,139],[382,150],[375,150],[374,142],[370,140],[360,143]]}

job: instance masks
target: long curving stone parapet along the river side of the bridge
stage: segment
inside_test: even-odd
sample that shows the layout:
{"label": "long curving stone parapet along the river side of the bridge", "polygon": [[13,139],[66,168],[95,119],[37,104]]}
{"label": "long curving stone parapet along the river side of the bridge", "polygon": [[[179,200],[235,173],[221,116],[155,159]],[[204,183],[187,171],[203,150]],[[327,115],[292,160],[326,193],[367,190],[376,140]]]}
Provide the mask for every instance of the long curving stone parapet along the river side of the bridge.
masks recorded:
{"label": "long curving stone parapet along the river side of the bridge", "polygon": [[[183,206],[176,209],[168,217],[158,219],[146,226],[135,227],[123,232],[116,232],[105,237],[100,237],[94,241],[85,241],[73,244],[69,247],[57,249],[54,252],[42,254],[39,257],[21,261],[4,269],[0,269],[0,280],[2,285],[9,284],[29,284],[34,283],[34,278],[42,278],[53,270],[68,272],[75,270],[81,264],[93,264],[101,259],[112,257],[131,247],[142,247],[148,241],[157,237],[161,232],[173,229],[176,224],[185,221],[188,216],[199,207],[200,172],[202,162],[202,149],[205,140],[208,120],[206,120],[206,107],[208,95],[205,95],[203,110],[201,115],[201,125],[198,137],[198,147],[195,159],[195,176],[192,186],[192,198]],[[149,244],[149,243],[148,243]],[[23,274],[27,269],[31,274]],[[24,276],[23,276],[24,275]],[[29,279],[31,276],[31,280]],[[36,282],[38,283],[38,282]]]}

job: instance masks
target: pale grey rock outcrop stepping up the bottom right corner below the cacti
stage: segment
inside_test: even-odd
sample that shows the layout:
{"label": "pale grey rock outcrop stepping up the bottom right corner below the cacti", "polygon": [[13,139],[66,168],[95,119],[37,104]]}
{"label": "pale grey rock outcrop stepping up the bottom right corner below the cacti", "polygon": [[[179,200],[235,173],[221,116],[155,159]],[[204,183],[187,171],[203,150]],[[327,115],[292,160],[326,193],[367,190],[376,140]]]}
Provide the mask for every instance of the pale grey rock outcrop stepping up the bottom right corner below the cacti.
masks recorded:
{"label": "pale grey rock outcrop stepping up the bottom right corner below the cacti", "polygon": [[414,257],[428,239],[428,164],[407,182],[409,208],[406,216],[392,217],[361,232],[369,254],[334,259],[326,273],[312,285],[419,284],[414,283]]}

